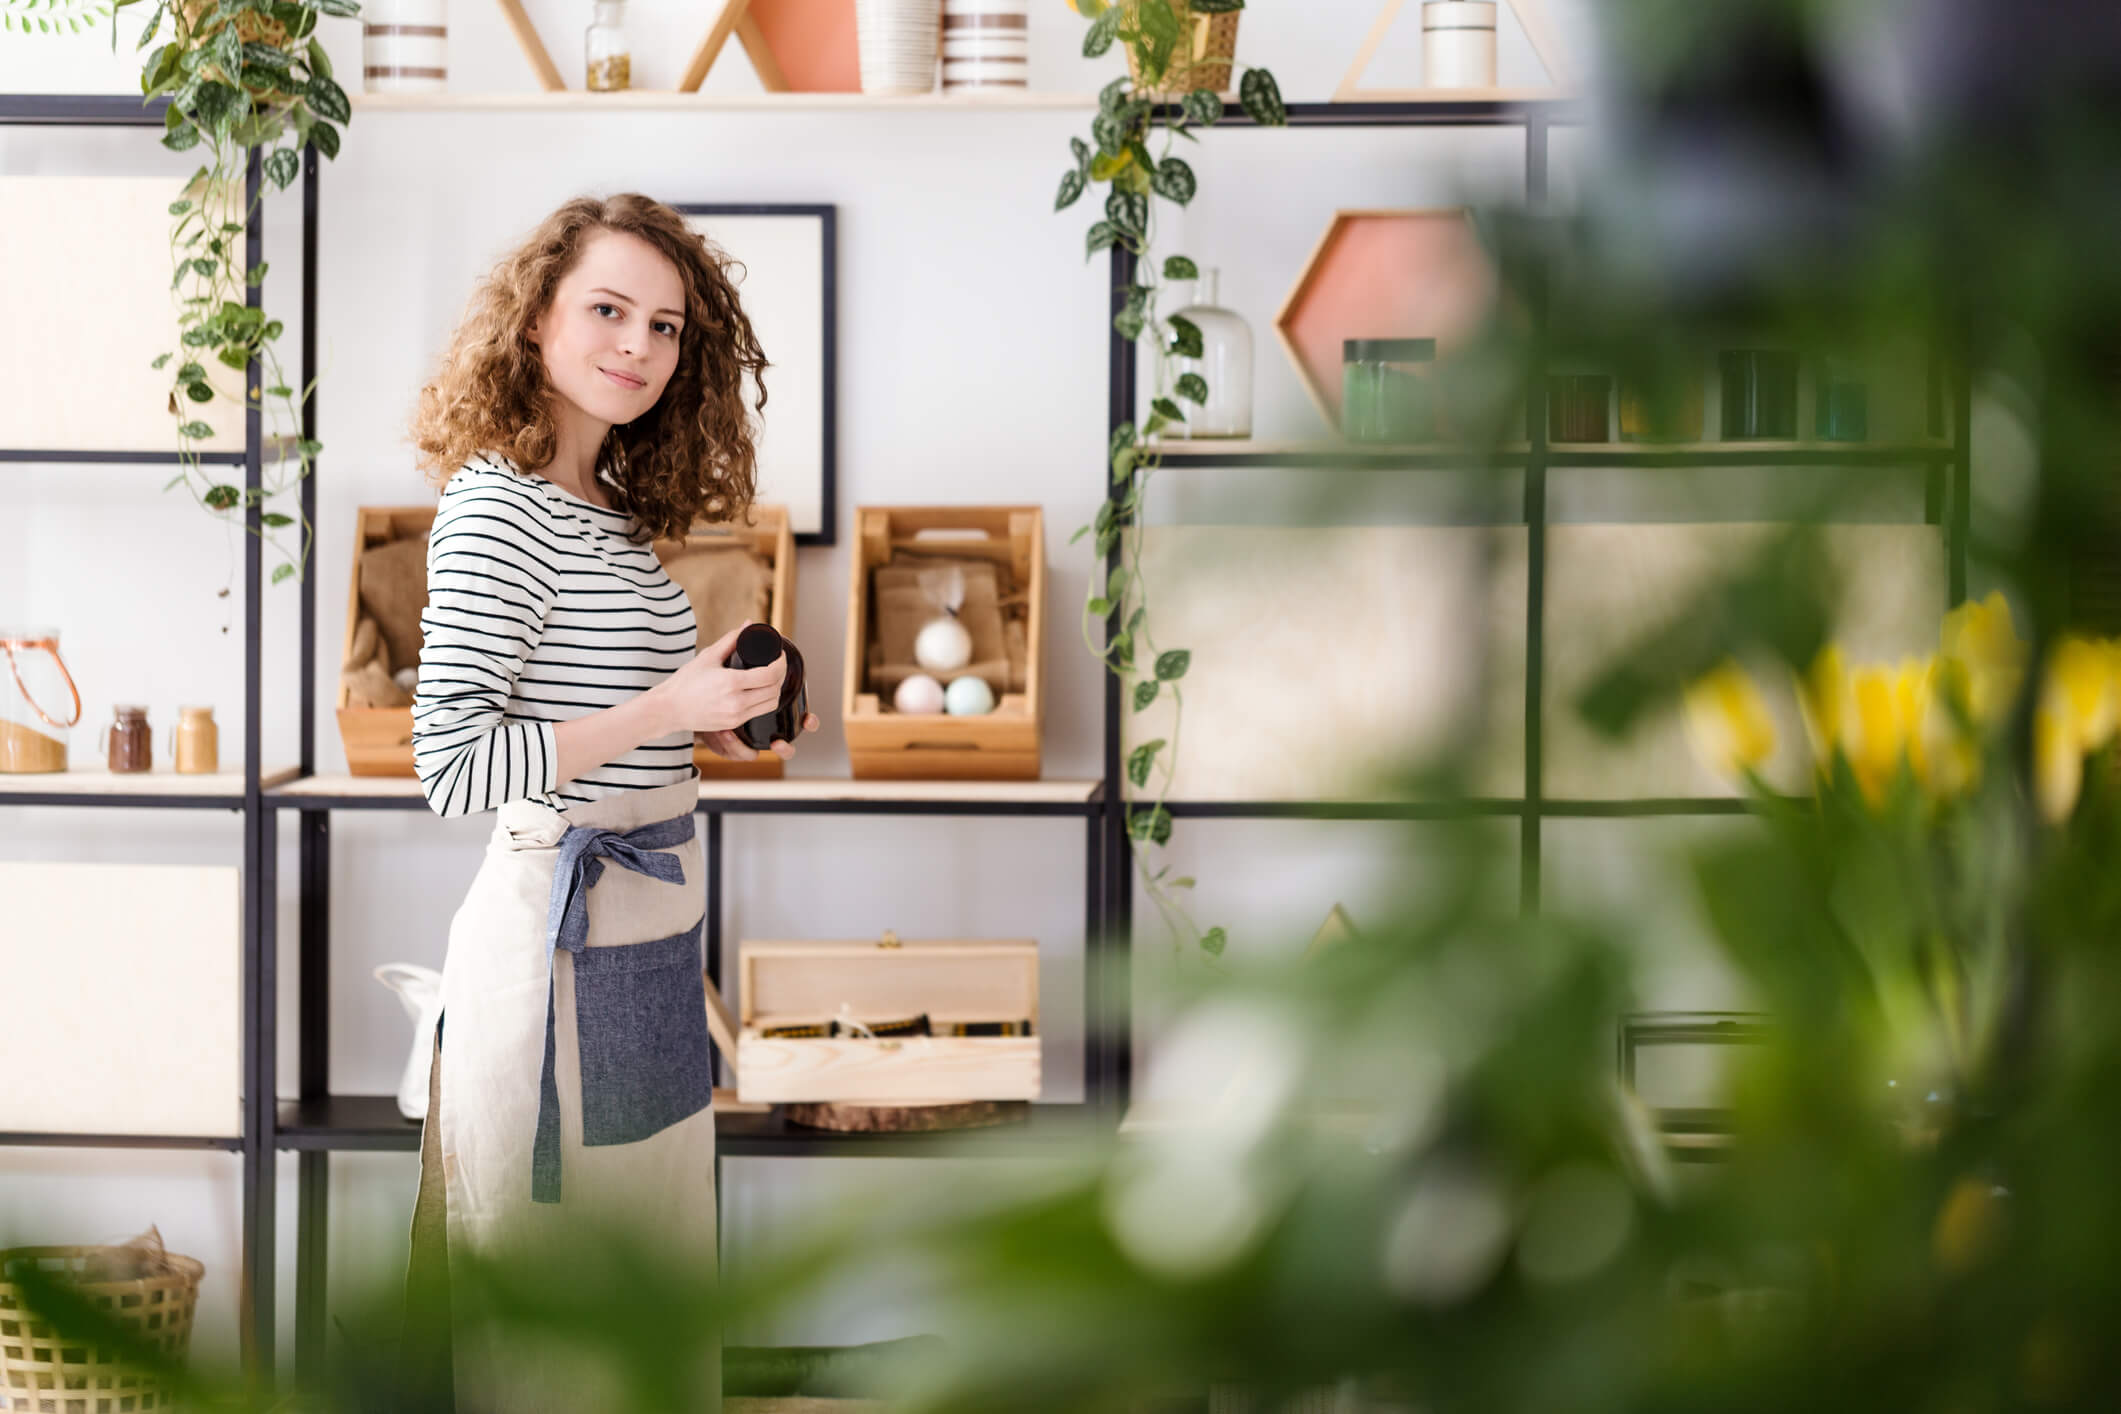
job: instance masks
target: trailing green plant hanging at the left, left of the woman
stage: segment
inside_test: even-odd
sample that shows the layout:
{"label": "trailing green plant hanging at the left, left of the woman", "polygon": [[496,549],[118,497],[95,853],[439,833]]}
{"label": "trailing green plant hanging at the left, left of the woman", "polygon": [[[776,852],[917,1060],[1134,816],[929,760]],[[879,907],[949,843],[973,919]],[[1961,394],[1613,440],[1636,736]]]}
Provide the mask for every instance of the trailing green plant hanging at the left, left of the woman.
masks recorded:
{"label": "trailing green plant hanging at the left, left of the woman", "polygon": [[[49,0],[47,0],[49,2]],[[112,0],[115,8],[142,0]],[[284,191],[301,174],[301,151],[339,155],[339,127],[352,119],[346,91],[331,76],[331,59],[316,40],[322,15],[358,15],[354,0],[159,0],[140,34],[146,49],[163,21],[170,38],[148,53],[140,74],[146,98],[168,95],[161,144],[172,153],[201,148],[206,163],[170,204],[170,290],[180,301],[178,343],[161,354],[157,369],[170,369],[170,413],[176,420],[180,471],[165,490],[185,485],[216,519],[242,524],[250,505],[261,511],[265,543],[282,560],[271,583],[301,572],[310,555],[310,526],[299,507],[271,509],[291,492],[320,443],[301,437],[301,407],[312,386],[293,388],[280,367],[276,341],[282,322],[248,303],[248,286],[265,282],[265,263],[244,269],[244,231],[265,191]],[[112,15],[112,45],[117,21]],[[257,199],[246,206],[250,155],[261,153]],[[259,384],[238,384],[229,394],[229,373],[244,379],[248,363],[259,363]],[[248,411],[267,409],[267,428],[282,428],[265,445],[265,477],[257,492],[218,479],[199,462],[199,443],[214,426],[199,405],[231,396]],[[295,528],[295,549],[282,532]],[[227,589],[223,589],[227,594]]]}

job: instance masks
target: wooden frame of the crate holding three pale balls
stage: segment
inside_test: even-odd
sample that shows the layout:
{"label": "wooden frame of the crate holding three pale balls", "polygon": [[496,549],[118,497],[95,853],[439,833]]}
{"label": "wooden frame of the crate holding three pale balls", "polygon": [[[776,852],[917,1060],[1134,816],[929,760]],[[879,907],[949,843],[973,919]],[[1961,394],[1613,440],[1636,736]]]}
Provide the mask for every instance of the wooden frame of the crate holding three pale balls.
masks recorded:
{"label": "wooden frame of the crate holding three pale balls", "polygon": [[[1010,566],[1027,594],[1024,691],[1001,693],[986,717],[906,717],[863,691],[870,657],[870,575],[893,549],[948,551]],[[1039,507],[861,507],[846,608],[842,721],[857,780],[1037,780],[1046,723],[1046,517]]]}

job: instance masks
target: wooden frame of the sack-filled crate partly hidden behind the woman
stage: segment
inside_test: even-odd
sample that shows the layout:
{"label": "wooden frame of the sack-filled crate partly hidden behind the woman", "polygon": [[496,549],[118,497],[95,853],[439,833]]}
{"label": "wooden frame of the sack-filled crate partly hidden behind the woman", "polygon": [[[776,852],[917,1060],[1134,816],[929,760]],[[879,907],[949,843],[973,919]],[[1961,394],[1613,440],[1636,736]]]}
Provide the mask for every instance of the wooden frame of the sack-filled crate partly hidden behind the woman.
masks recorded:
{"label": "wooden frame of the sack-filled crate partly hidden behind the woman", "polygon": [[[751,526],[696,526],[683,541],[655,541],[658,560],[668,562],[683,549],[706,545],[747,543],[772,566],[770,608],[766,621],[783,634],[795,625],[795,534],[789,528],[789,511],[781,505],[757,505],[751,509]],[[354,630],[361,623],[361,562],[380,545],[426,534],[435,524],[435,507],[361,507],[354,513],[354,570],[352,587],[346,596],[346,644],[341,661],[354,649]],[[698,604],[694,606],[698,611]],[[706,625],[702,625],[706,628]],[[728,630],[725,623],[706,638],[713,642]],[[411,776],[411,708],[369,708],[348,706],[346,683],[339,683],[339,742],[346,746],[346,770],[354,776]],[[711,780],[776,780],[783,772],[781,757],[759,753],[755,761],[723,761],[706,746],[694,748],[694,763]]]}

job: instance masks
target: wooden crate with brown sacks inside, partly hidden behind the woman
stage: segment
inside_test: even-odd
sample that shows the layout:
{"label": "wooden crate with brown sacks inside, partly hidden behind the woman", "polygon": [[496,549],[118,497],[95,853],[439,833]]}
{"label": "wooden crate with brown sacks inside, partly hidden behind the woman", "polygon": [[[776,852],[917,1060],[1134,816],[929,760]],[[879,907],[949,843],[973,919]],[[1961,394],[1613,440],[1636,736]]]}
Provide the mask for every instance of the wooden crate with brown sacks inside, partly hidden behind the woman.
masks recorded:
{"label": "wooden crate with brown sacks inside, partly hidden behind the woman", "polygon": [[[655,541],[655,558],[700,617],[702,647],[759,613],[783,634],[795,628],[795,534],[787,507],[753,507],[749,526],[696,526],[683,541]],[[354,572],[346,598],[339,672],[339,742],[354,776],[411,776],[411,693],[392,674],[418,666],[426,606],[426,532],[435,507],[361,507]],[[365,625],[363,621],[369,621]],[[728,621],[723,621],[728,619]],[[403,661],[401,661],[403,659]],[[694,763],[708,780],[778,780],[781,757],[723,761],[706,746]]]}

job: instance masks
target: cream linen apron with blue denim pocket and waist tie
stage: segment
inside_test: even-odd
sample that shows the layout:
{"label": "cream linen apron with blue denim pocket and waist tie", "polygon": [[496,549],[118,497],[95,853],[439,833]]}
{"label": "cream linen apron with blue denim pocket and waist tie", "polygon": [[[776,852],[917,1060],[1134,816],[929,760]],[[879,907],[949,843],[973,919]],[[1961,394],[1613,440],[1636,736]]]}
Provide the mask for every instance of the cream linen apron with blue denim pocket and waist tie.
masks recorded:
{"label": "cream linen apron with blue denim pocket and waist tie", "polygon": [[[653,1251],[715,1270],[698,801],[687,780],[566,814],[501,806],[441,971],[452,1266],[626,1225]],[[503,1348],[462,1300],[452,1327],[464,1410],[621,1406],[611,1372],[564,1342]],[[698,1408],[719,1410],[715,1331],[700,1333],[700,1357]]]}

